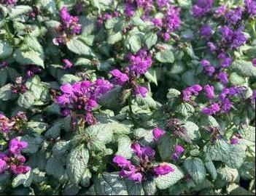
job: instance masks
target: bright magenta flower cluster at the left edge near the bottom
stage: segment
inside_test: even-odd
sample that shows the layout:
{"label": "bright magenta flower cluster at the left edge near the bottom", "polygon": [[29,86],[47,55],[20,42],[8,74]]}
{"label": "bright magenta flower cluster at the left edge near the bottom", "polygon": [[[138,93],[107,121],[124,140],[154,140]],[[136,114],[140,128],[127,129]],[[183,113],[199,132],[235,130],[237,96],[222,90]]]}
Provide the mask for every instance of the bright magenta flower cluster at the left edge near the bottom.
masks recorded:
{"label": "bright magenta flower cluster at the left edge near the bottom", "polygon": [[26,158],[21,155],[21,151],[27,147],[28,142],[20,141],[17,137],[12,139],[9,142],[8,152],[0,152],[0,173],[9,170],[18,175],[30,171],[30,166],[24,166]]}

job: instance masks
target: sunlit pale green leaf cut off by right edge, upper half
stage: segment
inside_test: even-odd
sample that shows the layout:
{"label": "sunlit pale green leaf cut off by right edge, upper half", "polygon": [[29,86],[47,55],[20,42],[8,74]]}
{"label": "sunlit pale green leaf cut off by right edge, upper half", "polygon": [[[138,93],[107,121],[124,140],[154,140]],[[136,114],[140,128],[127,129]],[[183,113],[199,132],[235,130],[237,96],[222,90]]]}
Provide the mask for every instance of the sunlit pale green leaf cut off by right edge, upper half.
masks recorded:
{"label": "sunlit pale green leaf cut off by right edge, upper half", "polygon": [[236,60],[230,65],[230,68],[241,75],[256,77],[256,68],[252,65],[252,62]]}

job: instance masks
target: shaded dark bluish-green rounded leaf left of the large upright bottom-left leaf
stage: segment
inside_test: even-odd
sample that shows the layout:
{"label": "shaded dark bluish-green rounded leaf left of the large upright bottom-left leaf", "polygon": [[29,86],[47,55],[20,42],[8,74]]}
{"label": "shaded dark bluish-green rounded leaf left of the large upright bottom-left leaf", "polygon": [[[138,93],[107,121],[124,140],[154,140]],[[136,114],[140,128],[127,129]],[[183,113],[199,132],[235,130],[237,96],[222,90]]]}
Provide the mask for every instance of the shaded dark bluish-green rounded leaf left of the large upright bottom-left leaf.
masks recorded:
{"label": "shaded dark bluish-green rounded leaf left of the large upright bottom-left leaf", "polygon": [[65,168],[60,159],[55,156],[47,160],[45,171],[47,175],[54,176],[56,179],[61,179],[65,174]]}

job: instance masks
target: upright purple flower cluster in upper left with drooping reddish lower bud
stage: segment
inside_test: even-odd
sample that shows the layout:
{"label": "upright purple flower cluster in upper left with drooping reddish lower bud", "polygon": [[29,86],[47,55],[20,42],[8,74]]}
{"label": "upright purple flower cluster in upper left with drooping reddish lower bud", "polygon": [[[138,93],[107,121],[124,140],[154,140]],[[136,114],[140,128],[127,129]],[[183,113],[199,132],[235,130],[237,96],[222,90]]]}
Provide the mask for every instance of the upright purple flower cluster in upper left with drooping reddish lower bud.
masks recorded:
{"label": "upright purple flower cluster in upper left with drooping reddish lower bud", "polygon": [[79,17],[74,17],[69,14],[67,7],[62,7],[60,11],[61,25],[58,28],[58,33],[61,35],[53,38],[53,44],[59,45],[66,42],[66,37],[75,36],[80,33],[82,25],[80,25]]}

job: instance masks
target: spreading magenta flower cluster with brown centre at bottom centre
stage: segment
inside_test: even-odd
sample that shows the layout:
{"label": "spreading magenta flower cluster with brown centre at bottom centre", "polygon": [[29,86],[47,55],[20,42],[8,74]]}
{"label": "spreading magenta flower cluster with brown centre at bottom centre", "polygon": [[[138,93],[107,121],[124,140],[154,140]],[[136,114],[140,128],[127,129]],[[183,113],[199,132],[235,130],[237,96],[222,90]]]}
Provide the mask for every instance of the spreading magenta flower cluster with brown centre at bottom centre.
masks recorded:
{"label": "spreading magenta flower cluster with brown centre at bottom centre", "polygon": [[121,177],[126,177],[132,181],[141,182],[151,180],[152,176],[163,176],[174,171],[174,168],[167,164],[155,166],[152,160],[155,158],[155,150],[151,147],[141,147],[139,143],[132,144],[133,152],[138,158],[138,162],[132,163],[123,156],[116,155],[113,162],[117,164],[122,171]]}

